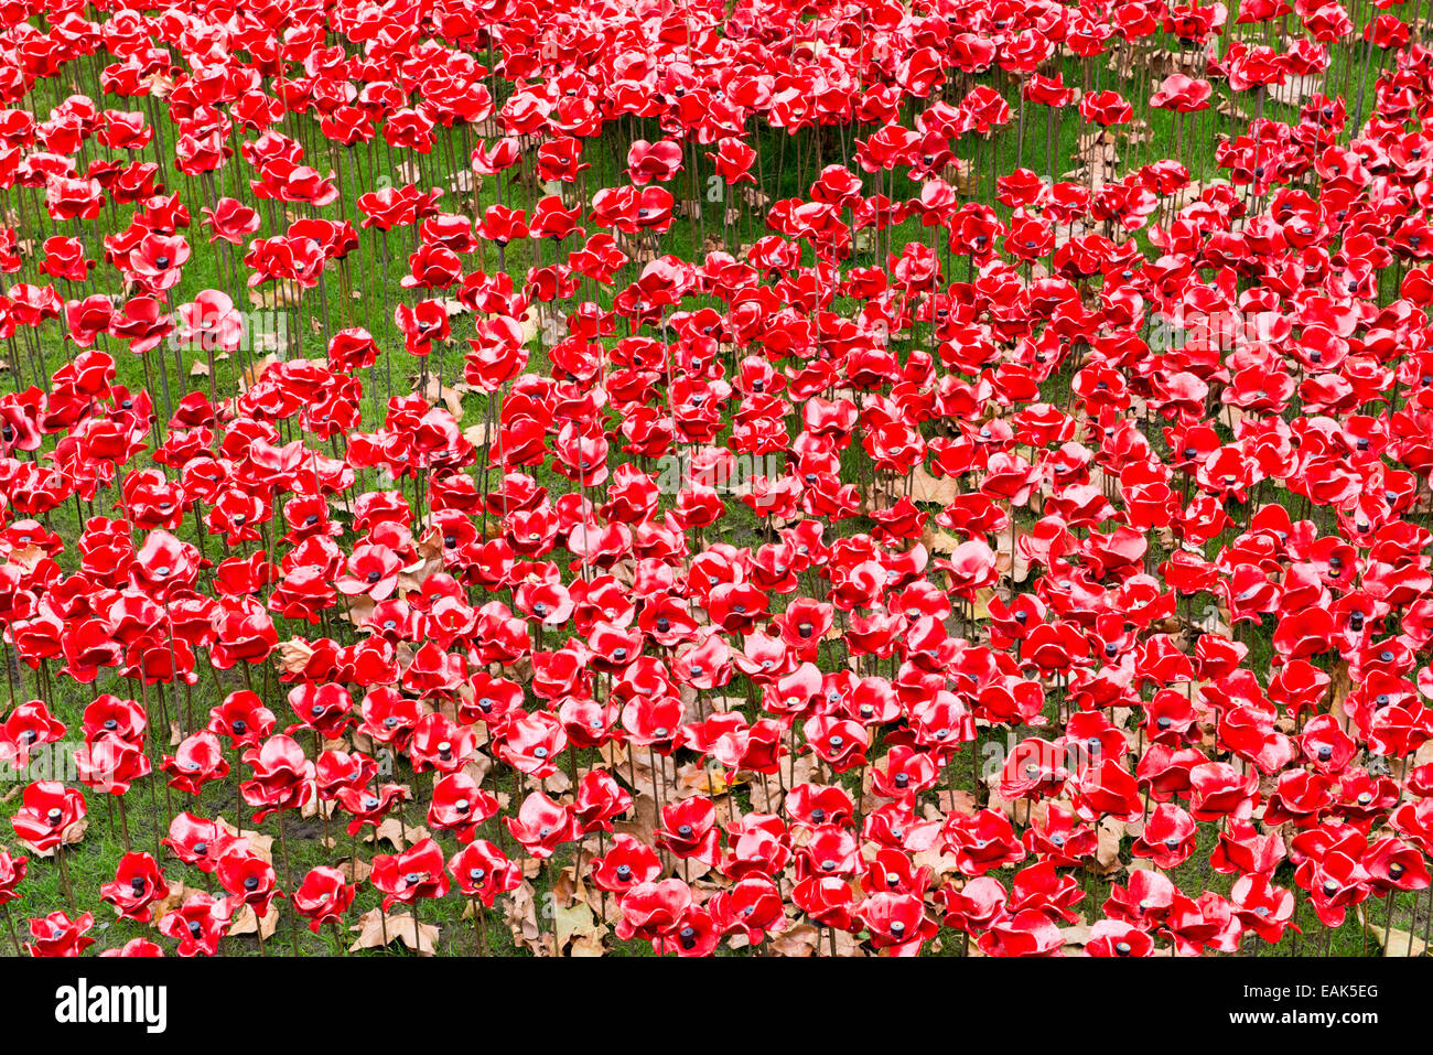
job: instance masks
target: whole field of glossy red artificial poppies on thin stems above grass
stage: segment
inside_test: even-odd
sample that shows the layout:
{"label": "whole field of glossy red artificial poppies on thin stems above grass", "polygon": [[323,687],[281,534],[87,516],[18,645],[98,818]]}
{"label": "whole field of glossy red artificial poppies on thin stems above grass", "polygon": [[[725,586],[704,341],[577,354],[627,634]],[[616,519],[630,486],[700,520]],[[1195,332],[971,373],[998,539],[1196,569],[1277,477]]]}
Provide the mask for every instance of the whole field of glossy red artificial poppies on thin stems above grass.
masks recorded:
{"label": "whole field of glossy red artificial poppies on thin stems above grass", "polygon": [[0,7],[29,950],[100,801],[106,955],[535,879],[559,953],[1412,932],[1416,7]]}

